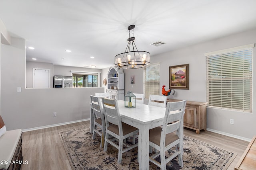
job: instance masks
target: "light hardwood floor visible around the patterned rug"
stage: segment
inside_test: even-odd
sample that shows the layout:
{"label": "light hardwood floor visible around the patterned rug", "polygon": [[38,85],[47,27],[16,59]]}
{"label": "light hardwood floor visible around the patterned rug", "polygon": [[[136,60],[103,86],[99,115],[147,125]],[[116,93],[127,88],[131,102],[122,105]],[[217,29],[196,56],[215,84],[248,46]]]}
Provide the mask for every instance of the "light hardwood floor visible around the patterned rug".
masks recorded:
{"label": "light hardwood floor visible around the patterned rug", "polygon": [[[50,127],[35,131],[23,133],[23,160],[28,164],[22,165],[22,170],[71,170],[68,156],[60,140],[59,131],[88,127],[89,121],[72,123],[57,127]],[[192,137],[199,141],[214,145],[216,147],[228,150],[237,154],[236,158],[230,164],[228,170],[234,170],[236,162],[242,156],[249,142],[234,139],[210,131],[195,131],[184,129],[184,135]]]}

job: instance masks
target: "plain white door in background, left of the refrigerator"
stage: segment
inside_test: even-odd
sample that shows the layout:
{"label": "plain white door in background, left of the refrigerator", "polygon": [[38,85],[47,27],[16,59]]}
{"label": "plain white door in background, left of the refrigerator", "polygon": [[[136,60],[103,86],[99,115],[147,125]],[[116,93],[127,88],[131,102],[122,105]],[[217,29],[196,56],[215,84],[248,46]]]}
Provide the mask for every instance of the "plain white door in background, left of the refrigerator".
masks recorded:
{"label": "plain white door in background, left of the refrigerator", "polygon": [[50,87],[50,70],[43,68],[33,68],[33,88]]}

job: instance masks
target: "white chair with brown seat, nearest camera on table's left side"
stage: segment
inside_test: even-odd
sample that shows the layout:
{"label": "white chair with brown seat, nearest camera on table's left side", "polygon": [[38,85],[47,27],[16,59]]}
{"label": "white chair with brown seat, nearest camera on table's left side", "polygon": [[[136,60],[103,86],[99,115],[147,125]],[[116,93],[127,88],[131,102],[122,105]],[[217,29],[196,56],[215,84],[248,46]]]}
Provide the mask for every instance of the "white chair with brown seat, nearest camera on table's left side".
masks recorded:
{"label": "white chair with brown seat, nearest camera on table's left side", "polygon": [[[118,149],[118,164],[120,164],[122,153],[138,146],[137,143],[128,145],[124,139],[130,136],[135,138],[139,129],[121,121],[117,100],[102,98],[102,103],[106,121],[104,152],[107,151],[108,143],[114,146]],[[109,137],[114,137],[114,139]],[[119,144],[114,143],[114,141],[119,141]]]}

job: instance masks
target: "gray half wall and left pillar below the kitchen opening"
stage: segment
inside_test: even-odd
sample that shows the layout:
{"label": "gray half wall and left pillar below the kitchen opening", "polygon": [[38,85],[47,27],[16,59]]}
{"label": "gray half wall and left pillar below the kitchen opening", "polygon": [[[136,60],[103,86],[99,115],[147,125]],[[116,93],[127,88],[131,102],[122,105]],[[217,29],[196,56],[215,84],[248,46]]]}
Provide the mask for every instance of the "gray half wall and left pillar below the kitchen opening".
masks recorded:
{"label": "gray half wall and left pillar below the kitchen opening", "polygon": [[11,45],[1,45],[1,115],[7,130],[89,119],[90,95],[104,88],[25,88],[25,40],[11,40]]}

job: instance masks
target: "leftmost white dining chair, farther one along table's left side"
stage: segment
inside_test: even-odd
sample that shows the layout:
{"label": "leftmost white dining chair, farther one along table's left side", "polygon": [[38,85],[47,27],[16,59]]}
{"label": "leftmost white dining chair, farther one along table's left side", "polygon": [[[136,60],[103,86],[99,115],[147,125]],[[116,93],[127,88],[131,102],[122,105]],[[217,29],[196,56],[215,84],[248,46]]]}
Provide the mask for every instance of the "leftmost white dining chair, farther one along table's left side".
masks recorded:
{"label": "leftmost white dining chair, farther one along table's left side", "polygon": [[[100,147],[102,148],[104,146],[104,136],[105,136],[105,117],[104,117],[104,111],[102,108],[101,98],[98,98],[96,96],[91,95],[91,102],[92,102],[92,111],[94,116],[94,125],[93,125],[93,134],[92,139],[96,138],[96,133],[101,136],[100,140]],[[100,129],[98,129],[98,128]]]}

